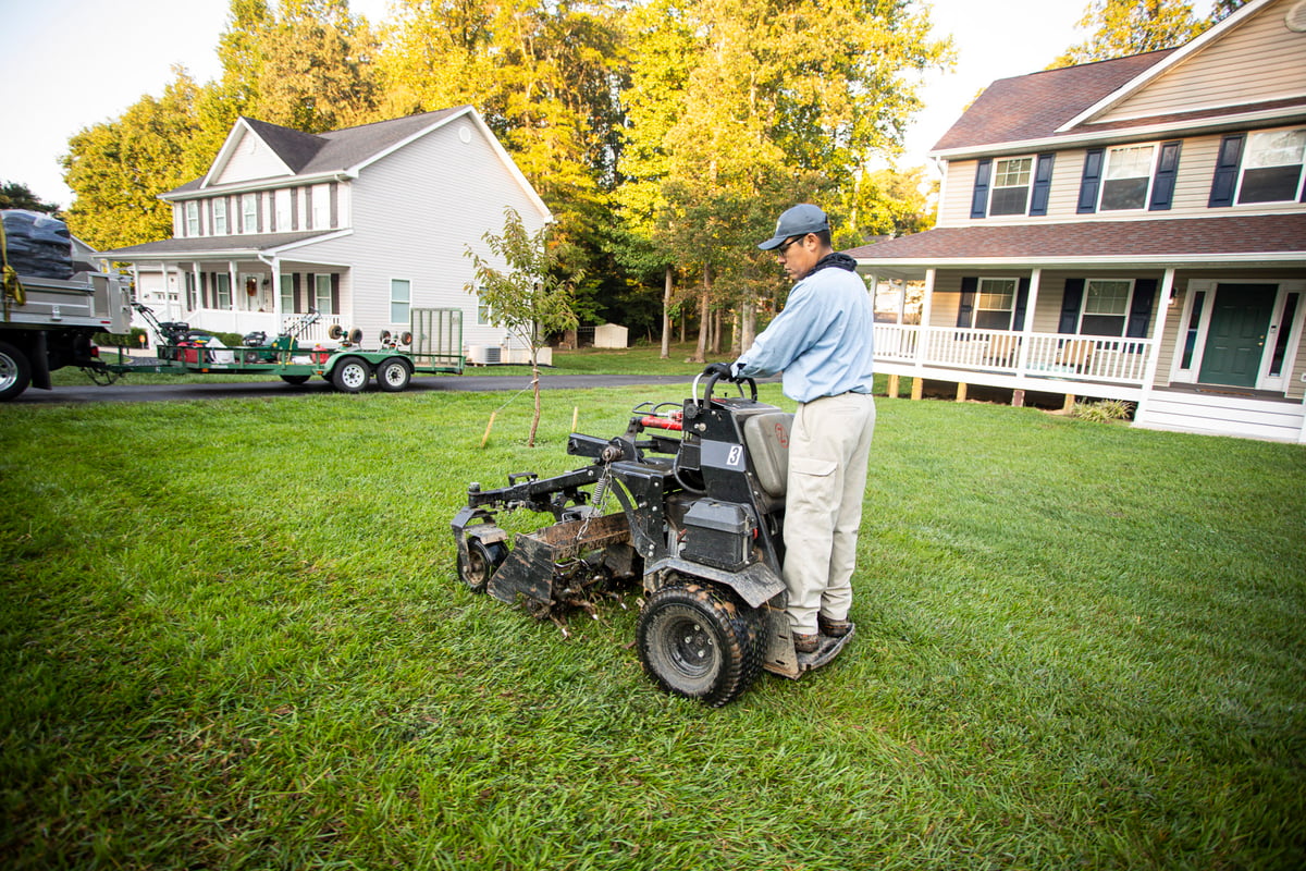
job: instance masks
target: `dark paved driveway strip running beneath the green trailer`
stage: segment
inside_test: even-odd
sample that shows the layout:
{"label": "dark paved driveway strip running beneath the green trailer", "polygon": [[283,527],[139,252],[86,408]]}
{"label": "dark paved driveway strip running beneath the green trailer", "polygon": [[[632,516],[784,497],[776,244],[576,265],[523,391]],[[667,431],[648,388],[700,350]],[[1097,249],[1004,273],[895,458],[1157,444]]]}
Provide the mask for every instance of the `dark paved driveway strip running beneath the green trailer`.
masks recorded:
{"label": "dark paved driveway strip running beneath the green trailer", "polygon": [[[624,387],[628,384],[683,384],[688,389],[692,375],[546,375],[539,379],[546,390]],[[530,375],[418,376],[409,384],[415,393],[440,390],[521,390],[530,385]],[[368,387],[376,392],[376,385]],[[86,402],[179,402],[187,400],[230,400],[242,397],[294,397],[333,393],[321,379],[303,385],[283,381],[249,381],[243,384],[132,384],[118,381],[108,387],[94,384],[56,387],[54,390],[29,388],[13,400],[16,405],[86,404]],[[688,393],[686,393],[688,394]]]}

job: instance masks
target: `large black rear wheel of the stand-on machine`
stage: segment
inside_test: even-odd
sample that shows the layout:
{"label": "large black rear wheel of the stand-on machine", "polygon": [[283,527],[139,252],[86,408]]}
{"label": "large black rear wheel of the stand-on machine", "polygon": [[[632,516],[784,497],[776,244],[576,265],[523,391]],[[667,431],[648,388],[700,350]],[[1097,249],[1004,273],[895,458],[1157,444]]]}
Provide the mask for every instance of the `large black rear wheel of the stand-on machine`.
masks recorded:
{"label": "large black rear wheel of the stand-on machine", "polygon": [[667,692],[720,708],[761,671],[761,626],[763,614],[729,590],[663,586],[640,611],[640,662]]}

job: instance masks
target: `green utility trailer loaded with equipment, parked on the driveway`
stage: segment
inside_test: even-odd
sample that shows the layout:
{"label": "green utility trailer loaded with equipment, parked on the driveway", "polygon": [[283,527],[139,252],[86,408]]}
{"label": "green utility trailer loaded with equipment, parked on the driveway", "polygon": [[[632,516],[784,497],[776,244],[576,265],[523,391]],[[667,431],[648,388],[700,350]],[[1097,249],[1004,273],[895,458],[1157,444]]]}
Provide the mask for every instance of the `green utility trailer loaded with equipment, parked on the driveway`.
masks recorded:
{"label": "green utility trailer loaded with equipment, parked on the driveway", "polygon": [[104,366],[114,375],[276,375],[287,384],[304,384],[317,376],[343,393],[364,390],[375,375],[381,390],[398,393],[413,375],[458,375],[464,366],[458,308],[414,308],[410,329],[400,334],[383,332],[375,349],[362,347],[362,330],[346,333],[338,326],[330,333],[338,346],[302,346],[299,337],[319,320],[316,312],[302,316],[272,342],[265,333],[249,333],[240,347],[213,347],[206,334],[189,324],[159,323],[138,303],[136,309],[158,337],[158,356],[133,359],[120,354]]}

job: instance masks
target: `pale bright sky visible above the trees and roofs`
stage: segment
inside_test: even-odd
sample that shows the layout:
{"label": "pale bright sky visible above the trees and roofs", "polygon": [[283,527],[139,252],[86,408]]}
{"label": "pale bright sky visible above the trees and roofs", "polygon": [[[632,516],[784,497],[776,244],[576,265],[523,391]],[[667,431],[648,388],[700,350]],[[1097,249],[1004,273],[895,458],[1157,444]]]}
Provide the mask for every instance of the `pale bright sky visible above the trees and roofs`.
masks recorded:
{"label": "pale bright sky visible above the trees and roofs", "polygon": [[[932,0],[936,34],[952,35],[957,63],[925,80],[925,110],[908,131],[900,167],[926,151],[981,89],[1046,67],[1084,39],[1075,22],[1088,0]],[[351,0],[374,24],[389,0]],[[0,180],[21,182],[68,206],[59,157],[78,131],[120,116],[145,94],[159,97],[174,64],[200,84],[214,80],[229,0],[0,0]]]}

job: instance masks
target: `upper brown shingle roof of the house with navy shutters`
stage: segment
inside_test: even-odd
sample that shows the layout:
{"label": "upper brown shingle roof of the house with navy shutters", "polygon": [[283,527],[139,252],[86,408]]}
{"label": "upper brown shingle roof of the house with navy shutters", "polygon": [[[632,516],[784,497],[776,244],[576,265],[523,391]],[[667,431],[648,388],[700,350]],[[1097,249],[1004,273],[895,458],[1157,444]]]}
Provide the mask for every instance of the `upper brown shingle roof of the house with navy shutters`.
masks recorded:
{"label": "upper brown shingle roof of the house with navy shutters", "polygon": [[1057,129],[1123,87],[1175,50],[999,78],[970,104],[935,151],[1020,142],[1054,136]]}

